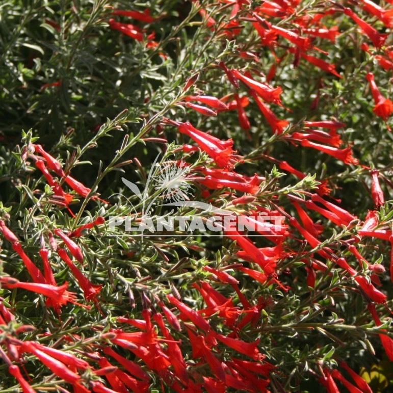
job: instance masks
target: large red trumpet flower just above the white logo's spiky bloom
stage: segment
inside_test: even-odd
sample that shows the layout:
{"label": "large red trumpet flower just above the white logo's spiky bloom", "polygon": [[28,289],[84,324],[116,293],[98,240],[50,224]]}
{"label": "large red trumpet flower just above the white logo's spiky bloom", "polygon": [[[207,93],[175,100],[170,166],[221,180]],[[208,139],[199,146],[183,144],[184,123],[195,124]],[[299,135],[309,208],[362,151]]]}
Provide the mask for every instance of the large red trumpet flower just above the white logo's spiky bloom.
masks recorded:
{"label": "large red trumpet flower just above the white logo's spiky bloom", "polygon": [[233,141],[221,141],[220,139],[206,134],[203,131],[196,129],[191,123],[180,123],[178,125],[180,133],[188,135],[192,138],[199,147],[211,156],[214,161],[221,168],[231,168],[237,161],[234,158],[234,151],[232,150]]}

